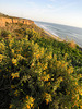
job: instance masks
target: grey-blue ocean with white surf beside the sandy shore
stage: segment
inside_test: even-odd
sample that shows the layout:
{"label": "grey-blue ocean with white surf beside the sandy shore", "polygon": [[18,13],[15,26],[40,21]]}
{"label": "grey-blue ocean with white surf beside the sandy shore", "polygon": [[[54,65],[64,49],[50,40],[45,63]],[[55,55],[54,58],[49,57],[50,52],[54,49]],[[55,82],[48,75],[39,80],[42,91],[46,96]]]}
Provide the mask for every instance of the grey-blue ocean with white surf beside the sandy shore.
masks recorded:
{"label": "grey-blue ocean with white surf beside the sandy shore", "polygon": [[82,47],[82,28],[37,21],[35,21],[35,24],[61,39],[74,40]]}

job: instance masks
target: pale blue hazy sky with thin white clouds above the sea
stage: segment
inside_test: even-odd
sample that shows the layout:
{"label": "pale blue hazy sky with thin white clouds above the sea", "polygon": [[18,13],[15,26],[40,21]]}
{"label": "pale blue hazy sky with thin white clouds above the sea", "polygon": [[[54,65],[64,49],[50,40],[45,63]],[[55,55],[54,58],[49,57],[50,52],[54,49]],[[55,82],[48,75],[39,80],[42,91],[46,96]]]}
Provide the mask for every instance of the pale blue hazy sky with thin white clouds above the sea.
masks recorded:
{"label": "pale blue hazy sky with thin white clouds above the sea", "polygon": [[82,0],[0,0],[0,12],[82,27]]}

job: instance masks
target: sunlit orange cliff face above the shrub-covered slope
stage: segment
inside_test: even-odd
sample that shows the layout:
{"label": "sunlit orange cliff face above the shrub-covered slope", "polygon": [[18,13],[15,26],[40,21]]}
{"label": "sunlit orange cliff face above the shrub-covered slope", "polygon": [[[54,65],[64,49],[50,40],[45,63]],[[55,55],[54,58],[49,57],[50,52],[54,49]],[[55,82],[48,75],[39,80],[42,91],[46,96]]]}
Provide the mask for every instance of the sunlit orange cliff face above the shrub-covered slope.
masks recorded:
{"label": "sunlit orange cliff face above the shrub-covered slope", "polygon": [[31,20],[25,20],[25,19],[0,17],[0,27],[4,27],[5,26],[5,23],[23,23],[23,24],[26,24],[26,25],[31,25],[34,22],[31,21]]}

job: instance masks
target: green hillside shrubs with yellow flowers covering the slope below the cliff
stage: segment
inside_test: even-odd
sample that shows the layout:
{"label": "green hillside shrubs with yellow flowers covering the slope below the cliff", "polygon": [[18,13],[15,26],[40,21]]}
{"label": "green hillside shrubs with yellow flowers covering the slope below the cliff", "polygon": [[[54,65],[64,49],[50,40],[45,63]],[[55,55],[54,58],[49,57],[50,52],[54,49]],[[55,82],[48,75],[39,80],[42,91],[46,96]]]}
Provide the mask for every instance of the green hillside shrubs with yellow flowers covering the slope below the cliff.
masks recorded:
{"label": "green hillside shrubs with yellow flowers covering the slope below the cliff", "polygon": [[35,24],[0,27],[0,109],[82,109],[82,51]]}

